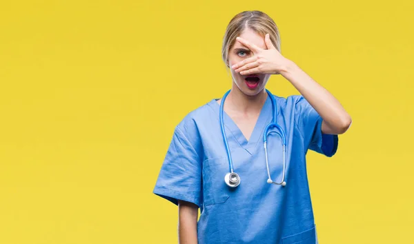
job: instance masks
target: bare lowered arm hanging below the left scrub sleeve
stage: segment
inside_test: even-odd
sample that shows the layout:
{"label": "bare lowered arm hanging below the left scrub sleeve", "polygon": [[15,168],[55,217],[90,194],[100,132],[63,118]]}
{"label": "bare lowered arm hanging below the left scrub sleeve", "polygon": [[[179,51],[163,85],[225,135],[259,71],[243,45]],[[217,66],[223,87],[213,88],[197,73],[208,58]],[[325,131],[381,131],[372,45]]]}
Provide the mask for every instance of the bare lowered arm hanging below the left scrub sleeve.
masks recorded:
{"label": "bare lowered arm hanging below the left scrub sleeve", "polygon": [[178,243],[197,244],[198,206],[186,201],[178,202]]}

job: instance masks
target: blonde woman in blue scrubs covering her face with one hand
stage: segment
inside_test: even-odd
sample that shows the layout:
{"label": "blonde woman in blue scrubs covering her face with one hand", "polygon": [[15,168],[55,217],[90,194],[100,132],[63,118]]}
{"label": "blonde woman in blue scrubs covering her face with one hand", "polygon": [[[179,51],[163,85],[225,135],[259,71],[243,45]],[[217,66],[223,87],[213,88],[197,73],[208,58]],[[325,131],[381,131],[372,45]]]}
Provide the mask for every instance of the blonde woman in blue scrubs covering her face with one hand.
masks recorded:
{"label": "blonde woman in blue scrubs covering her face with one hand", "polygon": [[[237,14],[222,48],[230,93],[177,125],[154,193],[179,205],[179,243],[317,243],[305,155],[311,149],[333,156],[351,117],[280,54],[279,43],[267,14]],[[302,96],[267,92],[271,74],[281,74]],[[268,134],[272,122],[282,130],[271,126]]]}

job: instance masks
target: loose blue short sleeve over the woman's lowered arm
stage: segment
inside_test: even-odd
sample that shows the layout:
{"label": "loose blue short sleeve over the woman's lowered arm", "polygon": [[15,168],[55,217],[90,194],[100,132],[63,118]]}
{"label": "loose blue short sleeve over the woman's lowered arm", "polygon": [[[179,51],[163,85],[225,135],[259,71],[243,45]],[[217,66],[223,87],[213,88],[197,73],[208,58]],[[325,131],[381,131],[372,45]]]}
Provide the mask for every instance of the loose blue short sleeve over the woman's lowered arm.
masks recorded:
{"label": "loose blue short sleeve over the woman's lowered arm", "polygon": [[201,160],[193,143],[177,127],[161,166],[154,194],[178,205],[178,200],[201,206]]}

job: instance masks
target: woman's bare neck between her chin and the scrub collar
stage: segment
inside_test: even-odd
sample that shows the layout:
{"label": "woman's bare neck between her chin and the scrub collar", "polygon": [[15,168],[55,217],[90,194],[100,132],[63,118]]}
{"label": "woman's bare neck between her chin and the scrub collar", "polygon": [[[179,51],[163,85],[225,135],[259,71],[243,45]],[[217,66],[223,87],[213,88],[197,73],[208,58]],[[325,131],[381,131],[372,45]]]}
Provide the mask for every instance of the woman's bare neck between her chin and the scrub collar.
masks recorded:
{"label": "woman's bare neck between her chin and the scrub collar", "polygon": [[248,96],[244,94],[237,86],[233,86],[228,94],[228,105],[232,110],[238,110],[243,113],[257,112],[262,110],[262,107],[267,99],[267,92],[263,90],[255,96]]}

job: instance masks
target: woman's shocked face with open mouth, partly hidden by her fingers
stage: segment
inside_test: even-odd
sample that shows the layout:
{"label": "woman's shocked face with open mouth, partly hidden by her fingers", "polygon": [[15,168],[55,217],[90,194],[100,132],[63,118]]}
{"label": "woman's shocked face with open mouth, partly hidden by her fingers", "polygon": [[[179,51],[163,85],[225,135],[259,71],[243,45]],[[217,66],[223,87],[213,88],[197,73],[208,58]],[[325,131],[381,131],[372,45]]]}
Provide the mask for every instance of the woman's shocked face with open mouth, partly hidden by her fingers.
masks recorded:
{"label": "woman's shocked face with open mouth, partly hidden by her fingers", "polygon": [[[267,49],[264,37],[257,34],[255,31],[246,29],[239,35],[248,42],[257,45],[259,48]],[[237,86],[240,91],[248,96],[255,96],[264,90],[264,87],[270,78],[270,74],[249,74],[242,75],[235,72],[231,68],[232,65],[253,57],[253,52],[246,48],[242,43],[235,41],[235,44],[230,48],[228,52],[228,64],[230,66],[230,72],[233,77],[233,88]]]}

